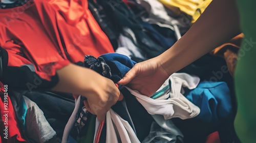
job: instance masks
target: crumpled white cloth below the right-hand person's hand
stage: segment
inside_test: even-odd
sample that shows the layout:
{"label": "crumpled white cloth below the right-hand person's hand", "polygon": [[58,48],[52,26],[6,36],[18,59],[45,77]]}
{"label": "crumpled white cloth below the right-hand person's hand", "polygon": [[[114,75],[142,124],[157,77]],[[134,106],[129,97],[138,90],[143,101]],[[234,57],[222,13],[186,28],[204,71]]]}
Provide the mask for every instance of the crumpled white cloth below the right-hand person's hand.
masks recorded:
{"label": "crumpled white cloth below the right-hand person's hand", "polygon": [[165,82],[170,83],[169,99],[152,99],[140,94],[137,90],[126,87],[142,104],[148,113],[163,115],[164,119],[179,117],[181,119],[193,118],[200,113],[200,109],[188,101],[182,93],[183,87],[194,89],[200,79],[185,73],[175,73]]}

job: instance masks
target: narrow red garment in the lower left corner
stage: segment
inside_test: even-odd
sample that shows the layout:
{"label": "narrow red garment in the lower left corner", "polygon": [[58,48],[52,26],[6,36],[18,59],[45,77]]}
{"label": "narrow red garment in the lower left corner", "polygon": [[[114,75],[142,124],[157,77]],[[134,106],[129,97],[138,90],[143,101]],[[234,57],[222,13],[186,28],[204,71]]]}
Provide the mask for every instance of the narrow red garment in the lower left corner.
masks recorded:
{"label": "narrow red garment in the lower left corner", "polygon": [[[2,82],[0,82],[0,112],[1,112],[1,120],[0,120],[0,133],[3,142],[26,142],[25,139],[22,138],[22,135],[20,135],[20,130],[18,128],[18,123],[17,123],[17,118],[11,103],[11,100],[9,96],[7,97],[7,100],[4,98],[4,85]],[[8,93],[8,91],[7,91]],[[6,104],[5,104],[6,103]],[[5,109],[5,105],[8,107]],[[8,117],[8,120],[5,120],[5,115],[7,114],[6,117]],[[5,122],[6,121],[6,122]],[[8,125],[7,125],[8,124]],[[5,138],[5,132],[6,130],[5,126],[8,126],[8,139]]]}

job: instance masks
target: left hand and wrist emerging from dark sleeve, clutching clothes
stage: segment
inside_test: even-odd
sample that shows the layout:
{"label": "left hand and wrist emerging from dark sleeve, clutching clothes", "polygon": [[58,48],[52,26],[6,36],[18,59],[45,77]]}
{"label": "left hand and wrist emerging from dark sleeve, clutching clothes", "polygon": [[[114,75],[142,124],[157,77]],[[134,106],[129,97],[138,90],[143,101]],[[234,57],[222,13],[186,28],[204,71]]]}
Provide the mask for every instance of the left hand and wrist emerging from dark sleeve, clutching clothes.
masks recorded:
{"label": "left hand and wrist emerging from dark sleeve, clutching clothes", "polygon": [[120,91],[114,82],[92,69],[69,64],[57,70],[57,74],[59,82],[52,90],[86,97],[84,105],[100,122],[119,99]]}

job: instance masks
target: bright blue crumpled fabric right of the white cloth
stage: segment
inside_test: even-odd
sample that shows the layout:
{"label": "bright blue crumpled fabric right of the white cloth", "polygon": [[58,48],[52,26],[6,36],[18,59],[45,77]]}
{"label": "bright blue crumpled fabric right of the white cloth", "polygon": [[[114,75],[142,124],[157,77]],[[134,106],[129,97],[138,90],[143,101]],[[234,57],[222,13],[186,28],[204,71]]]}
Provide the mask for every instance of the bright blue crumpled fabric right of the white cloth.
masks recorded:
{"label": "bright blue crumpled fabric right of the white cloth", "polygon": [[196,118],[204,122],[217,123],[232,115],[230,93],[225,82],[200,82],[184,96],[200,108]]}

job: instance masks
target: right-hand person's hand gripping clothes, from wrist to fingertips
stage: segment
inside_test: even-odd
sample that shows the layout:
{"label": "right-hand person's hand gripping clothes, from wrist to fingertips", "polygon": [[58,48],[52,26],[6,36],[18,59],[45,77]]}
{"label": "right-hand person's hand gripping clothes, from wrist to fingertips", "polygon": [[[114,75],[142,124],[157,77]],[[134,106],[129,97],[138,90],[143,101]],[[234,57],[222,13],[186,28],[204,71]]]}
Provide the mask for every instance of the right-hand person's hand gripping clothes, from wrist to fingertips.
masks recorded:
{"label": "right-hand person's hand gripping clothes, from wrist to fingertips", "polygon": [[135,64],[118,84],[138,90],[141,94],[151,97],[169,77],[156,59]]}

